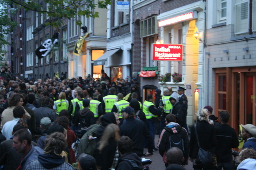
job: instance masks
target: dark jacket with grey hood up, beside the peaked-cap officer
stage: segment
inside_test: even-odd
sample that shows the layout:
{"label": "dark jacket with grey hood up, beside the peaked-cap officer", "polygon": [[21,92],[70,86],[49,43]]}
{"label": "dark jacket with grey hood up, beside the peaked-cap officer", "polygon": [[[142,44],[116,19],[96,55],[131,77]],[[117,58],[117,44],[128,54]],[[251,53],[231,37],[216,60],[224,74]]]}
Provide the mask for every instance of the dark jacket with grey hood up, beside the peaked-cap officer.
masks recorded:
{"label": "dark jacket with grey hood up, beside the peaked-cap officer", "polygon": [[174,98],[176,100],[175,104],[173,105],[170,113],[174,114],[176,116],[176,122],[183,127],[184,125],[184,117],[186,116],[186,113],[182,109],[181,104],[179,103],[179,98],[178,94],[176,92],[173,92],[171,97],[170,97],[170,102],[171,99]]}

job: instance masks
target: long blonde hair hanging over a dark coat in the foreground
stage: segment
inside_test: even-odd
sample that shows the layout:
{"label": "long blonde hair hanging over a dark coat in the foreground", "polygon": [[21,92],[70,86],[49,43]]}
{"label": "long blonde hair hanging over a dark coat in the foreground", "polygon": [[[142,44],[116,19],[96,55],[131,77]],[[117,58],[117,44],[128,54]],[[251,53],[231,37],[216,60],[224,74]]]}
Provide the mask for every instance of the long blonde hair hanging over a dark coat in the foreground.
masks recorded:
{"label": "long blonde hair hanging over a dark coat in the foreground", "polygon": [[100,153],[102,152],[104,147],[108,145],[108,141],[111,137],[114,138],[116,142],[118,142],[120,138],[119,127],[114,123],[109,124],[104,130],[104,133],[99,142],[100,145],[98,147],[98,150],[100,151]]}

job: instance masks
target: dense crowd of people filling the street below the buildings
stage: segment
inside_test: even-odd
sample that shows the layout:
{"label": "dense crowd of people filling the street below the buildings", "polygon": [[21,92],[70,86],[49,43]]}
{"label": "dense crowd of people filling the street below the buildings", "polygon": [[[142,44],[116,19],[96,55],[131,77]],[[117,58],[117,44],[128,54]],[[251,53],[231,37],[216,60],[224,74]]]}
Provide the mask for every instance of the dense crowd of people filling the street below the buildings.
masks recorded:
{"label": "dense crowd of people filling the street below the buildings", "polygon": [[[166,170],[184,170],[189,160],[195,170],[236,169],[232,149],[239,141],[228,125],[230,114],[216,117],[205,106],[188,133],[185,88],[166,88],[163,96],[156,89],[142,101],[134,79],[110,82],[104,71],[97,80],[11,78],[8,72],[0,78],[2,169],[141,170],[142,156],[156,150]],[[256,127],[241,126],[245,142],[238,169],[254,169]],[[213,162],[200,160],[201,148],[215,156]]]}

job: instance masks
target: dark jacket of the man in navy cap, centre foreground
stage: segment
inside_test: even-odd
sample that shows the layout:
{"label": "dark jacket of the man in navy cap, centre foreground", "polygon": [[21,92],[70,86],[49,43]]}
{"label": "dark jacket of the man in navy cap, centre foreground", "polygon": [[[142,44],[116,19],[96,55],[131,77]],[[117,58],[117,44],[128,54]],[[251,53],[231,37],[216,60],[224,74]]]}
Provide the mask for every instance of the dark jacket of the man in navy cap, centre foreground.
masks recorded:
{"label": "dark jacket of the man in navy cap, centre foreground", "polygon": [[143,155],[143,137],[145,137],[148,141],[148,152],[152,153],[152,137],[147,125],[143,121],[135,119],[134,117],[127,117],[126,122],[120,126],[120,135],[128,136],[132,140],[132,152],[138,154],[138,156]]}

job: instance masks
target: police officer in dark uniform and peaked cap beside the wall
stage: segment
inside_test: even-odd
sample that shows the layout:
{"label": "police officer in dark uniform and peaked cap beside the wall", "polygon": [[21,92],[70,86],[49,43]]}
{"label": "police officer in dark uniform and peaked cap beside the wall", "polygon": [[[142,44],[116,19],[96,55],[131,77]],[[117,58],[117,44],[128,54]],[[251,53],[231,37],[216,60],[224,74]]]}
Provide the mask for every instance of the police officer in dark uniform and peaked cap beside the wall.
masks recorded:
{"label": "police officer in dark uniform and peaked cap beside the wall", "polygon": [[187,96],[185,95],[185,90],[186,90],[186,89],[183,88],[183,87],[178,86],[177,90],[178,90],[178,94],[180,95],[180,97],[179,97],[179,103],[181,104],[182,109],[183,109],[183,111],[184,111],[184,113],[185,113],[185,115],[186,115],[186,116],[184,116],[184,126],[183,126],[183,127],[188,131],[188,126],[187,126],[188,98],[187,98]]}

